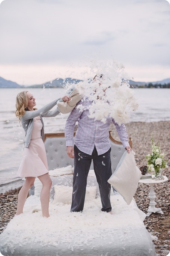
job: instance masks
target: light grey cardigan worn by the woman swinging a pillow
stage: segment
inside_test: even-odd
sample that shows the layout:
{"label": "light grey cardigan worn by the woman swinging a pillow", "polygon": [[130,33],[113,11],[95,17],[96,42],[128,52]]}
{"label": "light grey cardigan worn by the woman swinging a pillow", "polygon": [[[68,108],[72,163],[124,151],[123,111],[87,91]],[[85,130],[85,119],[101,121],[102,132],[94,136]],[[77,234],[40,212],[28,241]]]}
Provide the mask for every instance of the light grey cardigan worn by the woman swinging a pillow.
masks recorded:
{"label": "light grey cardigan worn by the woman swinging a pillow", "polygon": [[[69,96],[72,91],[74,90],[75,86],[71,87],[71,89],[68,90],[67,95]],[[34,117],[40,116],[41,122],[42,122],[42,129],[41,129],[41,137],[42,140],[44,141],[44,123],[42,117],[53,117],[57,116],[60,111],[58,108],[55,110],[49,111],[51,108],[53,108],[57,102],[61,100],[61,98],[55,99],[54,101],[50,102],[49,104],[45,105],[44,107],[34,110],[34,111],[26,111],[24,116],[21,117],[21,123],[22,127],[24,128],[25,131],[25,148],[28,148],[31,140],[31,133],[33,130],[33,125],[34,125]]]}

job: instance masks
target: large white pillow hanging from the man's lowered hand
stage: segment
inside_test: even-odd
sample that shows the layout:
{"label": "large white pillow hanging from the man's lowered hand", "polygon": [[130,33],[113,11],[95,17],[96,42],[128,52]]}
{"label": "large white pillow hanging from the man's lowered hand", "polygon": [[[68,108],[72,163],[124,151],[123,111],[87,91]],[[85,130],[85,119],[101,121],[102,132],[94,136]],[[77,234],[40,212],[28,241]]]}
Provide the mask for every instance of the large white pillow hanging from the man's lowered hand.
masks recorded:
{"label": "large white pillow hanging from the man's lowered hand", "polygon": [[123,196],[127,205],[133,199],[142,173],[136,166],[133,152],[124,152],[108,182]]}

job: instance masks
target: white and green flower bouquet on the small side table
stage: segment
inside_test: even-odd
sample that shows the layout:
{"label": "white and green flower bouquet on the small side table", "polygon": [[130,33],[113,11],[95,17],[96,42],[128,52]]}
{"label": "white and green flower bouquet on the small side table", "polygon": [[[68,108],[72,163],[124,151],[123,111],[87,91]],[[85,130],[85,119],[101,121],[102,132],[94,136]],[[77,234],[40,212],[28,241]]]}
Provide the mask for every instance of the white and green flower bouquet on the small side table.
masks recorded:
{"label": "white and green flower bouquet on the small side table", "polygon": [[148,162],[148,171],[157,177],[161,174],[162,170],[168,168],[167,161],[164,160],[165,153],[161,153],[160,146],[156,146],[153,138],[151,138],[152,142],[152,153],[146,156]]}

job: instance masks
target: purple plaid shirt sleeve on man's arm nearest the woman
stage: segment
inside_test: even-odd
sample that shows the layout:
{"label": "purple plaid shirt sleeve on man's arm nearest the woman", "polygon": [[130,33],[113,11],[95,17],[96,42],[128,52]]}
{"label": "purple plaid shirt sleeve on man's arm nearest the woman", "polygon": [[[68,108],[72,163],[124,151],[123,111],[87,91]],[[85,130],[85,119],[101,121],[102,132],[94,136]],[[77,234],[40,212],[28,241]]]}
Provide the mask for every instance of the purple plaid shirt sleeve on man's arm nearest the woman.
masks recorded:
{"label": "purple plaid shirt sleeve on man's arm nearest the woman", "polygon": [[[82,104],[82,101],[79,101],[77,105]],[[74,127],[75,123],[80,118],[83,111],[81,111],[79,108],[77,108],[77,105],[75,108],[71,111],[69,114],[66,125],[65,125],[65,140],[66,140],[66,146],[74,146],[73,136],[74,136]]]}

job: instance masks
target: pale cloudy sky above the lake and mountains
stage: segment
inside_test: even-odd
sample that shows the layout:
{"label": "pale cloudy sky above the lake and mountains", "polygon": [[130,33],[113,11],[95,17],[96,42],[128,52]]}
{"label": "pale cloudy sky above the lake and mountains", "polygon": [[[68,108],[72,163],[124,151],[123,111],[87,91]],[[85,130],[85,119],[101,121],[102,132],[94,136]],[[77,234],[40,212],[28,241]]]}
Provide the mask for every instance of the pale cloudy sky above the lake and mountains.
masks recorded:
{"label": "pale cloudy sky above the lake and mountains", "polygon": [[83,79],[92,58],[117,59],[134,81],[170,78],[169,2],[1,2],[0,77],[25,85]]}

